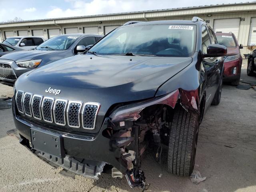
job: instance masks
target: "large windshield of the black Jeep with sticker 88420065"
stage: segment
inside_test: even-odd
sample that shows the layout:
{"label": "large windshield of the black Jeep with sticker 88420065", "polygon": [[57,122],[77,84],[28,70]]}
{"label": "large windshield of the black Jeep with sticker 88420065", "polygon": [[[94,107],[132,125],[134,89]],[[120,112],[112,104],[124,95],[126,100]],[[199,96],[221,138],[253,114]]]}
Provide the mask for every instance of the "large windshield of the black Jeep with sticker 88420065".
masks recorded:
{"label": "large windshield of the black Jeep with sticker 88420065", "polygon": [[90,52],[103,55],[187,57],[195,51],[195,44],[195,25],[125,26],[111,32]]}

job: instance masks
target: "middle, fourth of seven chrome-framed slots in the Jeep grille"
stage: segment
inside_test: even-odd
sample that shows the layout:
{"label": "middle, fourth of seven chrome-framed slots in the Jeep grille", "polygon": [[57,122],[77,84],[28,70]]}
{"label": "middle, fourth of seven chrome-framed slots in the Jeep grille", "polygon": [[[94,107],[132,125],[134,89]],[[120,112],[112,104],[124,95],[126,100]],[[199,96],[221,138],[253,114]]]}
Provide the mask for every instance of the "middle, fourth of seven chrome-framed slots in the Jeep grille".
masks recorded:
{"label": "middle, fourth of seven chrome-framed slots in the Jeep grille", "polygon": [[43,103],[42,103],[42,114],[43,114],[43,119],[46,122],[52,123],[52,106],[54,104],[54,98],[50,97],[44,97]]}

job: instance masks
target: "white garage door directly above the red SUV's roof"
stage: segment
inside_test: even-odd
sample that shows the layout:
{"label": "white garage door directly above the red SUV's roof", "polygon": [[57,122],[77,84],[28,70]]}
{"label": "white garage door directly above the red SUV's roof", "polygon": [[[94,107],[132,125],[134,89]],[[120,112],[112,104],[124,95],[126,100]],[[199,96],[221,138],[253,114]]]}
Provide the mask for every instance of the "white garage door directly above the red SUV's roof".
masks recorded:
{"label": "white garage door directly above the red SUV's roof", "polygon": [[216,19],[214,20],[213,30],[222,33],[232,32],[238,38],[239,26],[240,18]]}

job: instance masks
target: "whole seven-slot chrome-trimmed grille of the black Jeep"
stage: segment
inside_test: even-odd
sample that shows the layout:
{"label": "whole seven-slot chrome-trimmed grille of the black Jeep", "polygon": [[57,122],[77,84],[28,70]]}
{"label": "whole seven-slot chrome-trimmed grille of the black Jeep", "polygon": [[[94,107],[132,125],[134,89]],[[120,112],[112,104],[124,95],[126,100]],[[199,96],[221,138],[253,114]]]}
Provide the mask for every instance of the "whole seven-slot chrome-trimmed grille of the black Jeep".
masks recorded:
{"label": "whole seven-slot chrome-trimmed grille of the black Jeep", "polygon": [[[44,97],[18,90],[16,92],[18,111],[26,116],[72,128],[94,129],[100,109],[99,103],[68,101]],[[80,123],[82,122],[82,123]],[[82,125],[81,125],[82,124]]]}

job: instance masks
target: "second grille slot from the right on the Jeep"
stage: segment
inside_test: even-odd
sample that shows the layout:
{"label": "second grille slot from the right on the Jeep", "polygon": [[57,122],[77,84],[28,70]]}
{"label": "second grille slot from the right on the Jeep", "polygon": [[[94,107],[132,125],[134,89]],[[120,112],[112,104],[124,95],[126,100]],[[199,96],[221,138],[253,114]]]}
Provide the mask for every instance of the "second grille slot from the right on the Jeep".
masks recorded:
{"label": "second grille slot from the right on the Jeep", "polygon": [[82,102],[80,101],[70,101],[68,102],[68,126],[79,128],[80,127],[80,112],[81,112]]}

